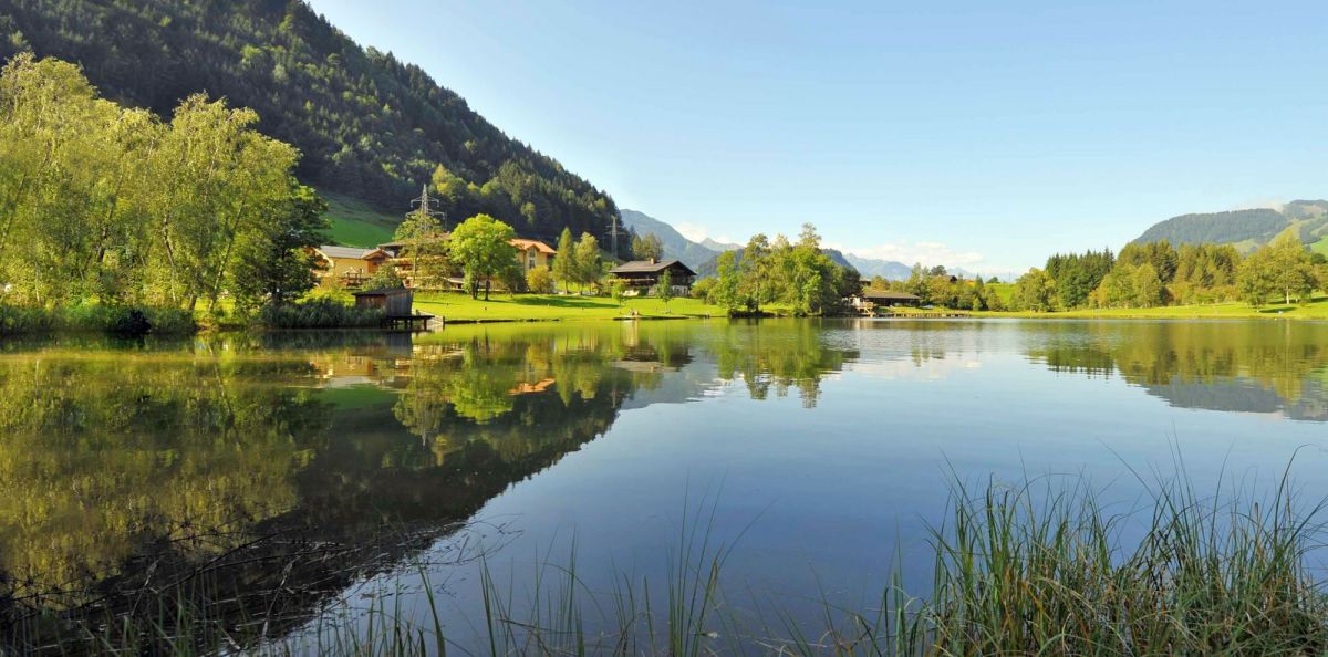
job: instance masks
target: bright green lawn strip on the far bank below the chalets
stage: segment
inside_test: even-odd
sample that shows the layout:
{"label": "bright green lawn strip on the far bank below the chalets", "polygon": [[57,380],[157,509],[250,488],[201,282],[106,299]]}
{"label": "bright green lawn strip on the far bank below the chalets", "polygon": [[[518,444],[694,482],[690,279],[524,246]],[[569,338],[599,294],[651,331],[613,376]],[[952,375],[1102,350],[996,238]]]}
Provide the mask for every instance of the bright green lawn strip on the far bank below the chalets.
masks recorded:
{"label": "bright green lawn strip on the far bank below the chalets", "polygon": [[493,293],[489,300],[461,293],[421,293],[414,308],[448,321],[475,320],[611,320],[636,311],[643,317],[724,317],[717,305],[699,299],[627,299],[623,305],[608,297]]}

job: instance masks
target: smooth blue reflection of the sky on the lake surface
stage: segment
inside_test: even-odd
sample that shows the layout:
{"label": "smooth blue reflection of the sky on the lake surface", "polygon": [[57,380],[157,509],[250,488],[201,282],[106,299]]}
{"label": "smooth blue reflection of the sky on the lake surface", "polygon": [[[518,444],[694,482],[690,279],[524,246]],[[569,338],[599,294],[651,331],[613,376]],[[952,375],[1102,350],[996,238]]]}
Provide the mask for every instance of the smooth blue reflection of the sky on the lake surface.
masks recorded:
{"label": "smooth blue reflection of the sky on the lake surface", "polygon": [[[756,401],[741,385],[714,388],[699,354],[639,390],[603,438],[487,503],[479,518],[522,530],[490,565],[505,581],[529,575],[534,555],[560,555],[575,536],[591,589],[610,589],[622,571],[663,588],[684,499],[709,490],[717,539],[748,527],[730,591],[791,592],[781,600],[810,615],[797,596],[818,589],[872,604],[896,559],[924,587],[926,528],[946,518],[955,478],[1082,478],[1123,511],[1146,499],[1135,473],[1170,473],[1177,454],[1206,491],[1222,473],[1272,483],[1309,446],[1296,455],[1297,482],[1307,499],[1328,494],[1323,425],[1183,407],[1120,376],[1054,372],[1027,356],[1037,340],[1013,324],[831,330],[825,341],[858,358],[821,381],[811,409],[795,394]],[[475,609],[478,576],[448,575],[454,600]]]}

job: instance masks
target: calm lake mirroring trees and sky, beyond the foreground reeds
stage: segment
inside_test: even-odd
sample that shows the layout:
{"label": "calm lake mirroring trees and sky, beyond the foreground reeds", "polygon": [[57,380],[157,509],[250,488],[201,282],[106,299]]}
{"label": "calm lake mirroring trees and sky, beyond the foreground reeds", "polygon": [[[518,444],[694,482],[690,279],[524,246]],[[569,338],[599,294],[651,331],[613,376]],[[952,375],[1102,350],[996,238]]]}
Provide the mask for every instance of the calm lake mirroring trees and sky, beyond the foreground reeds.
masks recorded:
{"label": "calm lake mirroring trees and sky, beyond the foreground reeds", "polygon": [[872,604],[894,572],[924,592],[956,484],[1082,483],[1130,510],[1182,466],[1201,490],[1267,487],[1295,459],[1316,499],[1325,422],[1315,323],[7,341],[5,641],[54,649],[70,621],[171,592],[194,615],[173,620],[276,638],[377,608],[425,622],[432,601],[478,646],[482,573],[521,605],[575,551],[587,592],[663,589],[697,526],[732,548],[729,605],[811,621],[821,601]]}

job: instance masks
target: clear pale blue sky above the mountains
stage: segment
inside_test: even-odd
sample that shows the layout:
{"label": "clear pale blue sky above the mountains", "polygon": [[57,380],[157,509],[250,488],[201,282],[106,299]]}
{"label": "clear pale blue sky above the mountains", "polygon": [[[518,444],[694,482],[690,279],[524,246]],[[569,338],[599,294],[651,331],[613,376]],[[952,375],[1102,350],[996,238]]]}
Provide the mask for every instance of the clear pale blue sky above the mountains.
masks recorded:
{"label": "clear pale blue sky above the mountains", "polygon": [[689,236],[1003,272],[1328,196],[1328,3],[312,5]]}

